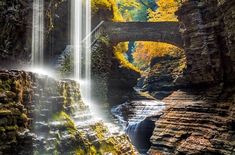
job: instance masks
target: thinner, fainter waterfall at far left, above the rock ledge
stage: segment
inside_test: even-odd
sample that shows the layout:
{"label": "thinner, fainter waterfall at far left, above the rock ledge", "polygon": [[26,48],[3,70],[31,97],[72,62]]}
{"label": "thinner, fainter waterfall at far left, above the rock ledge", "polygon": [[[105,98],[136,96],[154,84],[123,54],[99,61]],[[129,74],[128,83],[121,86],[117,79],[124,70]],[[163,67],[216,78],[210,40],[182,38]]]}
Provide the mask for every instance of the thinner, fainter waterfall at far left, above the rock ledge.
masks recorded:
{"label": "thinner, fainter waterfall at far left, above the rock ledge", "polygon": [[33,1],[32,67],[43,66],[44,49],[44,0]]}

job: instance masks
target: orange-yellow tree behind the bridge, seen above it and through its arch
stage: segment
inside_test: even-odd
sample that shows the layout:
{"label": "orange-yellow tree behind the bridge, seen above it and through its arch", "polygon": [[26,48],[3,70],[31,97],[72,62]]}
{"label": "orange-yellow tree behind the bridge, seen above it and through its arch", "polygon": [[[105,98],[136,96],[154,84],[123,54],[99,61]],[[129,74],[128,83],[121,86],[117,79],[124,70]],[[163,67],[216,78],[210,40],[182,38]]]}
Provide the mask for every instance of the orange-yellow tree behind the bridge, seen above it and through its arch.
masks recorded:
{"label": "orange-yellow tree behind the bridge, seen above it and through its arch", "polygon": [[[158,9],[156,11],[148,10],[149,22],[177,21],[175,12],[178,10],[177,0],[157,0]],[[146,67],[152,58],[164,55],[177,55],[183,52],[182,49],[161,42],[137,42],[133,54],[135,64],[140,67]]]}

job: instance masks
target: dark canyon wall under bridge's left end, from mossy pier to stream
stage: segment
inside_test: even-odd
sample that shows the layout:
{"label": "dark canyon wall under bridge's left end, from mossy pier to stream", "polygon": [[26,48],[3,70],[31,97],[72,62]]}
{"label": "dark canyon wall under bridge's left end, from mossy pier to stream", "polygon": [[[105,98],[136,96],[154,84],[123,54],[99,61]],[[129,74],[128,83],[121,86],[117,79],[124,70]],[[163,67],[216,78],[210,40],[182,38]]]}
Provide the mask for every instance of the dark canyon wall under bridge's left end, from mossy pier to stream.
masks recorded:
{"label": "dark canyon wall under bridge's left end, from mossy pier to stream", "polygon": [[92,46],[92,94],[97,101],[112,105],[125,102],[140,74],[122,66],[114,55],[114,44],[101,36]]}

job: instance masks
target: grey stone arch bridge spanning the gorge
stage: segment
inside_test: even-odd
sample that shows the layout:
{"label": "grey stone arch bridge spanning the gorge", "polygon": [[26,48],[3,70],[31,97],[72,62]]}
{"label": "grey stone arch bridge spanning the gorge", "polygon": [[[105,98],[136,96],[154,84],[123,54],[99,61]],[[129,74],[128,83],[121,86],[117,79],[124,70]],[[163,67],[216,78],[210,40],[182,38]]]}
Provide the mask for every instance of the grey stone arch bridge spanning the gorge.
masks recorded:
{"label": "grey stone arch bridge spanning the gorge", "polygon": [[92,31],[92,41],[107,34],[113,44],[125,41],[155,41],[183,47],[178,22],[104,22]]}

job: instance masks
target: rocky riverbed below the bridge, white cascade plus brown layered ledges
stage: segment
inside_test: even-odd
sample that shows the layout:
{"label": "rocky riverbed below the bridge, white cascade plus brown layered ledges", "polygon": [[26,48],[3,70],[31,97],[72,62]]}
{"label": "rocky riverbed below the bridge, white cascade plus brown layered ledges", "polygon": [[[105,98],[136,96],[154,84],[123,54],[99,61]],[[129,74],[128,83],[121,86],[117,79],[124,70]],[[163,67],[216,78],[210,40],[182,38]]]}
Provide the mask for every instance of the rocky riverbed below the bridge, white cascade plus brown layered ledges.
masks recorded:
{"label": "rocky riverbed below the bridge, white cascade plus brown layered ledges", "polygon": [[231,155],[234,100],[216,99],[215,90],[174,91],[162,101],[142,96],[112,112],[141,153]]}

